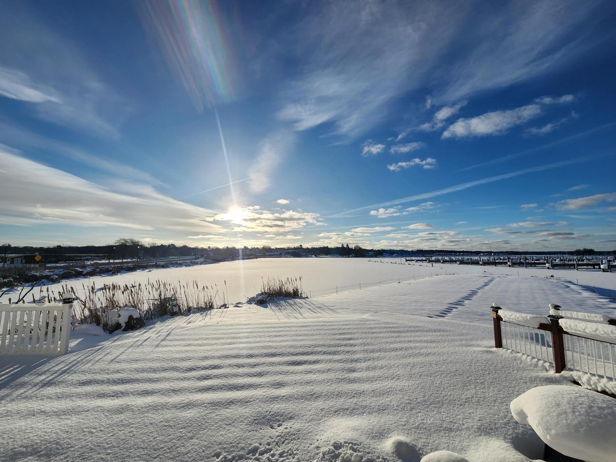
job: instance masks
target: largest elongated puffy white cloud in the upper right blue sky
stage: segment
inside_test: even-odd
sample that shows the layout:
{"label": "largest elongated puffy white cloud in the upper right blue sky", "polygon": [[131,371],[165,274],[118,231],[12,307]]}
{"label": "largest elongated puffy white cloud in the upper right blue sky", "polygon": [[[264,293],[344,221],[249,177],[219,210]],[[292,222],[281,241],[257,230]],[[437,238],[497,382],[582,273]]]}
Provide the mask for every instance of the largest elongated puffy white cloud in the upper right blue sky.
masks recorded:
{"label": "largest elongated puffy white cloud in the upper right blue sky", "polygon": [[443,132],[442,138],[500,135],[540,114],[540,105],[529,104],[508,111],[488,112],[471,119],[458,119]]}

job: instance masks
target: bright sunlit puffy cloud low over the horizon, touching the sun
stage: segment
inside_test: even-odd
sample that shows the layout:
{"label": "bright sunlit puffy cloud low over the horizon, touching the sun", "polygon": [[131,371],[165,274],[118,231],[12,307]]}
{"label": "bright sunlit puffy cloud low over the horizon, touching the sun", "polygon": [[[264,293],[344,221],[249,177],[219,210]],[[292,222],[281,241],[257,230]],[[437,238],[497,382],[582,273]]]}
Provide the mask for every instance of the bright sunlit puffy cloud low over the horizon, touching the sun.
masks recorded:
{"label": "bright sunlit puffy cloud low over the horizon, touching the sun", "polygon": [[235,207],[227,213],[208,217],[208,221],[224,221],[234,231],[280,232],[300,229],[308,224],[321,224],[318,213],[288,210],[283,213],[263,210],[259,206]]}

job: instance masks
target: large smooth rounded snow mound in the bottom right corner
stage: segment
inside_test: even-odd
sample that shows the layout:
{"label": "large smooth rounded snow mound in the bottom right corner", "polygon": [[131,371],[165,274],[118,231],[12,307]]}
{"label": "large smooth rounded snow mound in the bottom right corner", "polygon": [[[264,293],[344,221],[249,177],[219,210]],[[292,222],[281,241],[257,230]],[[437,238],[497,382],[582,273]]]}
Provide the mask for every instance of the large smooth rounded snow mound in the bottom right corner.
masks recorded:
{"label": "large smooth rounded snow mound in the bottom right corner", "polygon": [[511,402],[511,413],[564,455],[589,462],[614,461],[614,398],[577,386],[546,385],[519,395]]}

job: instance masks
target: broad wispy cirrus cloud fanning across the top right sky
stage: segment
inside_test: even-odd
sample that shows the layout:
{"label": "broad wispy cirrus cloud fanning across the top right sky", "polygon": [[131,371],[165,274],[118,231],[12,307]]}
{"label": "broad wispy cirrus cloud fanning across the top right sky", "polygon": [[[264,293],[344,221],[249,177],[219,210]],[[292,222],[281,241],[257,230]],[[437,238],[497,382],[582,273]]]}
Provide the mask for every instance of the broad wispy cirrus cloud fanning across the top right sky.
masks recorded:
{"label": "broad wispy cirrus cloud fanning across the top right sky", "polygon": [[[475,1],[306,4],[301,22],[290,23],[276,41],[277,54],[302,53],[278,118],[297,130],[330,123],[334,134],[356,137],[383,121],[397,97],[421,87],[435,86],[431,104],[448,105],[544,75],[594,46],[585,20],[595,7],[573,1],[524,9]],[[471,43],[460,49],[461,40]]]}

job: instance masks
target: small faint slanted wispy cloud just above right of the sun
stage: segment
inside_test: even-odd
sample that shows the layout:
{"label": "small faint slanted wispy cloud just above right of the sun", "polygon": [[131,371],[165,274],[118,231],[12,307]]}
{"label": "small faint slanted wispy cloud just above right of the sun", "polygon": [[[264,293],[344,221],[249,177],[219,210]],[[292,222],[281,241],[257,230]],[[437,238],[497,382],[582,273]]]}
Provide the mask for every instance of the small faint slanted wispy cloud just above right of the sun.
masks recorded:
{"label": "small faint slanted wispy cloud just above right of the sun", "polygon": [[250,190],[261,193],[272,184],[271,176],[286,154],[293,148],[295,137],[289,131],[270,133],[259,142],[257,156],[250,166]]}

